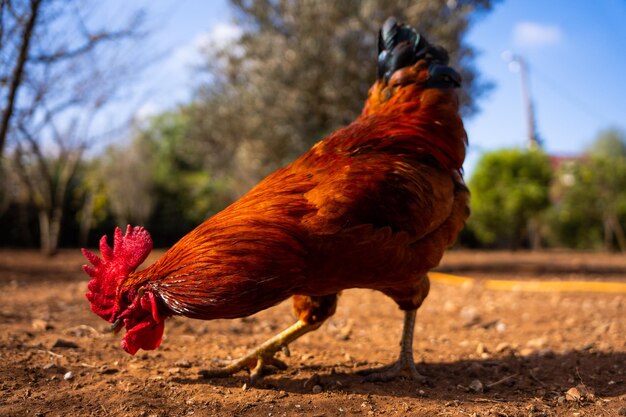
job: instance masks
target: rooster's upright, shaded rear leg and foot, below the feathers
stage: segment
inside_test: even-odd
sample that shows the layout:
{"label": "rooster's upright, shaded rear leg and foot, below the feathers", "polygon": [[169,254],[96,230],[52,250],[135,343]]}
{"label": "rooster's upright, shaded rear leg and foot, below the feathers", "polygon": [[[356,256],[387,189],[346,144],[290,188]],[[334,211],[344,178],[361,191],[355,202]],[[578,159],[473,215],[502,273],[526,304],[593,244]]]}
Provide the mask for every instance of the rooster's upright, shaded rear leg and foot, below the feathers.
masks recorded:
{"label": "rooster's upright, shaded rear leg and foot, below the feathers", "polygon": [[413,329],[415,328],[416,312],[417,310],[405,311],[398,360],[383,368],[361,371],[360,374],[366,375],[366,381],[389,381],[399,376],[405,376],[416,381],[424,380],[424,377],[417,372],[413,361]]}

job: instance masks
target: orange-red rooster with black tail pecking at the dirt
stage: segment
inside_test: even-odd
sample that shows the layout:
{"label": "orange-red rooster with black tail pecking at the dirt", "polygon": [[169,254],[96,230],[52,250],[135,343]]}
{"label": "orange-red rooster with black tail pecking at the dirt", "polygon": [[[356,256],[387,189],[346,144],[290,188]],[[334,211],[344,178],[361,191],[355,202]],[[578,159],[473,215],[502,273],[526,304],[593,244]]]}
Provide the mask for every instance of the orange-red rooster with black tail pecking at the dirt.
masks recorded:
{"label": "orange-red rooster with black tail pecking at the dirt", "polygon": [[381,291],[405,312],[398,360],[369,380],[421,378],[413,360],[415,313],[469,215],[462,177],[467,136],[448,54],[388,19],[378,79],[361,115],[240,200],[200,224],[150,267],[149,233],[104,236],[102,258],[84,250],[91,309],[126,328],[122,348],[156,349],[165,319],[245,317],[292,297],[295,324],[223,368],[251,383],[285,365],[278,351],[330,317],[349,288]]}

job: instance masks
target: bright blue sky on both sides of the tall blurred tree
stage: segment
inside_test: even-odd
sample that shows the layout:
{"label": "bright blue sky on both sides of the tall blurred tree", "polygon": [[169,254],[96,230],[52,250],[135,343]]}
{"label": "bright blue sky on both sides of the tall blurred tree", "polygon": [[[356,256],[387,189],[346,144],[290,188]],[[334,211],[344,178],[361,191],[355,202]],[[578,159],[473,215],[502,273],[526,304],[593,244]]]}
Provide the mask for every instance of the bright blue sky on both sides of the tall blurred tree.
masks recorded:
{"label": "bright blue sky on both sides of the tall blurred tree", "polygon": [[[186,101],[194,85],[197,50],[228,37],[226,1],[146,3],[163,59],[146,71],[136,110],[149,115]],[[537,131],[552,154],[576,154],[607,127],[626,130],[626,2],[624,0],[505,0],[474,23],[467,41],[480,52],[478,69],[495,88],[466,121],[469,174],[479,155],[524,146],[526,127],[519,72],[502,52],[523,56]]]}

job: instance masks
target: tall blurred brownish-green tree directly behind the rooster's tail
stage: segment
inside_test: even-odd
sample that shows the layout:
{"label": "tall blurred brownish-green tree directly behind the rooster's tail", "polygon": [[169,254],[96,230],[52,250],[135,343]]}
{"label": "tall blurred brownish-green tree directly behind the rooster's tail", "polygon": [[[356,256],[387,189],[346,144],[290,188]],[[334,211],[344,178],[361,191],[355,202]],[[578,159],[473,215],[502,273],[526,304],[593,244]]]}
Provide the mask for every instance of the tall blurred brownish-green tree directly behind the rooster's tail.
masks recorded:
{"label": "tall blurred brownish-green tree directly behind the rooster's tail", "polygon": [[464,79],[466,115],[487,84],[464,41],[492,0],[231,0],[241,34],[206,48],[210,81],[199,89],[191,137],[240,191],[361,111],[376,78],[377,34],[389,16],[450,52]]}

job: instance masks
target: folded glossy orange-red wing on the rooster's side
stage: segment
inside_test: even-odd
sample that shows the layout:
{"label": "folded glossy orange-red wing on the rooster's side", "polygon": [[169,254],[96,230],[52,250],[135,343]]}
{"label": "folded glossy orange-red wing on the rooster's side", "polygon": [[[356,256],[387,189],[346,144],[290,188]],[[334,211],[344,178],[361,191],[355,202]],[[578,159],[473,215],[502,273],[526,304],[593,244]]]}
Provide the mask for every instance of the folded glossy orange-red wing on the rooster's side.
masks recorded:
{"label": "folded glossy orange-red wing on the rooster's side", "polygon": [[368,134],[367,124],[353,126],[340,146],[324,141],[294,163],[294,170],[310,173],[315,183],[305,198],[317,211],[303,222],[311,233],[369,224],[419,240],[450,216],[455,181],[410,137]]}

